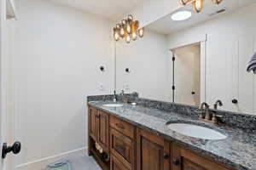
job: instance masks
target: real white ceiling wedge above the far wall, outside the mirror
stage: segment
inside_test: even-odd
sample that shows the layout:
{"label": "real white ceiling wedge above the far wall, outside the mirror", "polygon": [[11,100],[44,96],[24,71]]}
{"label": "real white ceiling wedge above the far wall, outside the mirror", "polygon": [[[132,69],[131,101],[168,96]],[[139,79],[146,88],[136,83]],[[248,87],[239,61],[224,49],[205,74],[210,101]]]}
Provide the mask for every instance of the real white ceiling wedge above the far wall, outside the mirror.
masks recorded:
{"label": "real white ceiling wedge above the far wall, outside the mirror", "polygon": [[117,20],[123,14],[129,13],[143,0],[48,0],[52,3],[79,8],[91,14],[96,14],[110,20]]}

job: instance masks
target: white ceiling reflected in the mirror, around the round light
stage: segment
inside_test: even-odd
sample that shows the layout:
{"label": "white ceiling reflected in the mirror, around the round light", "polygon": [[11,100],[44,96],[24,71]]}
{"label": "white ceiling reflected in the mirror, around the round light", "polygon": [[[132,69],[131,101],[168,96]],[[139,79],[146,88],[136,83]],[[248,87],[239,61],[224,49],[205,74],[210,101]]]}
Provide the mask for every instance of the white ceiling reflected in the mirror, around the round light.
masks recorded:
{"label": "white ceiling reflected in the mirror, around the round light", "polygon": [[[205,1],[205,5],[203,10],[201,11],[201,14],[195,14],[195,12],[192,10],[192,5],[189,4],[183,8],[180,8],[178,10],[189,10],[193,13],[192,17],[189,20],[183,20],[183,21],[173,21],[171,19],[171,14],[167,14],[160,20],[154,21],[154,23],[147,26],[147,29],[150,31],[155,31],[161,34],[172,34],[175,31],[183,30],[189,26],[195,26],[198,23],[201,23],[206,20],[211,20],[212,18],[220,15],[213,15],[209,16],[210,14],[216,13],[216,11],[225,8],[226,11],[224,13],[230,13],[233,10],[236,10],[237,8],[241,8],[244,6],[247,6],[251,3],[256,3],[256,0],[224,0],[223,3],[219,5],[214,5],[211,3],[211,1]],[[222,14],[224,14],[222,13]]]}

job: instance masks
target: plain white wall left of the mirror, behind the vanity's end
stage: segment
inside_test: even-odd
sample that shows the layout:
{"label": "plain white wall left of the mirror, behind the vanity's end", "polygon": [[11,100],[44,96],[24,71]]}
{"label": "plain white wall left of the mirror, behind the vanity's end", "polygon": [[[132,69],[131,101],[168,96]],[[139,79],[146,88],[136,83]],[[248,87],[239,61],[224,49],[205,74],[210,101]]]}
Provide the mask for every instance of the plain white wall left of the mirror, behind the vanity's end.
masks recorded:
{"label": "plain white wall left of the mirror, behind the vanity's end", "polygon": [[16,5],[19,20],[9,23],[15,139],[22,143],[16,166],[29,169],[87,146],[86,96],[113,92],[112,34],[108,20],[77,9]]}

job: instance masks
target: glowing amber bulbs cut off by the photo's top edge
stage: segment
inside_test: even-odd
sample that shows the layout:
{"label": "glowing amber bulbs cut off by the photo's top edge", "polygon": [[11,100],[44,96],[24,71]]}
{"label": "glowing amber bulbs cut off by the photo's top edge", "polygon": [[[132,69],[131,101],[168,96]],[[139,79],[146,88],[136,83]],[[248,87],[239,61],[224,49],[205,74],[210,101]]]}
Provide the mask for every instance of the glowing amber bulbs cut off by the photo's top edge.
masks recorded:
{"label": "glowing amber bulbs cut off by the photo's top edge", "polygon": [[[187,5],[189,3],[192,3],[193,9],[195,10],[196,13],[200,13],[201,9],[203,8],[205,0],[179,0],[179,3],[181,3],[183,6]],[[210,0],[214,4],[219,4],[222,3],[223,0]]]}

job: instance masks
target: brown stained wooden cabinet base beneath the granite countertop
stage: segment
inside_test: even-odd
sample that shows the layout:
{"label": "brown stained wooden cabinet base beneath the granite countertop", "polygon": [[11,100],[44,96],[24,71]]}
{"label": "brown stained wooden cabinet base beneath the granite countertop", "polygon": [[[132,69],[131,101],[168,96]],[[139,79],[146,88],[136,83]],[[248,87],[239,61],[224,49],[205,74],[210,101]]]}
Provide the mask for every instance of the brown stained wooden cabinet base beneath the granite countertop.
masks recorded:
{"label": "brown stained wooden cabinet base beneath the granite countertop", "polygon": [[[89,155],[103,170],[230,170],[93,107],[89,107],[88,120]],[[95,143],[102,146],[103,154]]]}

